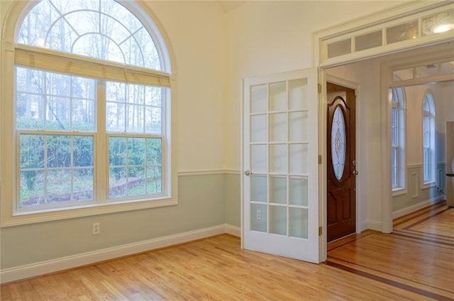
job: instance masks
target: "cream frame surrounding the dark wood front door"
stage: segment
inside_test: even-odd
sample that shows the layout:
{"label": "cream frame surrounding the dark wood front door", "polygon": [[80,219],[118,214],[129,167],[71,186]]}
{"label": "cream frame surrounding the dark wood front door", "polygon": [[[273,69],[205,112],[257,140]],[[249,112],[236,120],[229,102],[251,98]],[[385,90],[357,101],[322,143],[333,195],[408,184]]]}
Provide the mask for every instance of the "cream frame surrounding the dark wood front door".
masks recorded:
{"label": "cream frame surrounding the dark wood front door", "polygon": [[[355,90],[355,97],[356,97],[356,100],[355,100],[355,160],[356,160],[356,170],[358,170],[358,173],[359,175],[362,174],[362,162],[363,162],[363,159],[361,158],[361,152],[358,152],[358,149],[360,148],[361,146],[361,142],[360,141],[360,138],[362,137],[362,135],[360,135],[361,133],[361,128],[358,127],[358,120],[359,119],[359,112],[360,112],[360,84],[358,84],[357,82],[353,82],[353,81],[350,81],[350,80],[346,80],[346,79],[343,79],[341,77],[336,77],[336,76],[333,76],[333,75],[327,75],[325,74],[325,80],[322,81],[323,82],[323,87],[322,87],[322,100],[321,100],[321,106],[323,106],[325,109],[324,109],[324,112],[322,112],[322,116],[324,116],[324,121],[321,121],[323,123],[323,127],[321,128],[321,132],[320,133],[323,133],[321,135],[321,140],[323,140],[323,148],[321,148],[321,151],[323,152],[321,155],[322,155],[322,165],[324,166],[324,173],[325,173],[325,177],[327,179],[328,177],[328,173],[327,173],[327,168],[328,168],[328,153],[327,153],[327,150],[326,148],[328,147],[328,140],[327,140],[327,137],[326,137],[326,133],[327,133],[327,130],[328,130],[328,125],[327,125],[327,111],[328,111],[328,99],[326,97],[326,82],[331,82],[332,84],[338,84],[340,86],[343,86],[343,87],[346,87],[346,88],[350,88],[350,89],[354,89]],[[323,164],[324,163],[324,164]],[[360,195],[361,195],[361,187],[362,185],[364,185],[364,179],[365,177],[356,177],[356,191],[355,191],[355,205],[356,205],[356,209],[355,209],[355,233],[360,233],[361,232],[361,226],[360,226],[360,210],[362,209],[361,207],[361,202],[359,202],[358,200],[360,199]],[[326,219],[326,210],[327,210],[327,205],[326,205],[326,202],[328,202],[328,187],[327,187],[327,181],[324,181],[323,182],[323,195],[324,195],[324,206],[325,206],[325,219]],[[324,223],[325,225],[325,229],[326,229],[326,221]],[[325,241],[327,241],[327,238],[325,236]]]}

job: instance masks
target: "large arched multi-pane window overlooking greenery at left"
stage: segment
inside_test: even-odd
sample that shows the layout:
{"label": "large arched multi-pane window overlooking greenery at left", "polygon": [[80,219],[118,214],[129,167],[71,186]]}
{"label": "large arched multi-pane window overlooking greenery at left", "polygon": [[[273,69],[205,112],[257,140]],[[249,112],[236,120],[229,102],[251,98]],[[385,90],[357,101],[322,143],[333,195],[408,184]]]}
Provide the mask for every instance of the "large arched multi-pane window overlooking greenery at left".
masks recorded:
{"label": "large arched multi-pane window overlooking greenery at left", "polygon": [[145,16],[130,1],[43,0],[22,19],[15,101],[2,110],[13,215],[175,203],[169,58],[133,12]]}

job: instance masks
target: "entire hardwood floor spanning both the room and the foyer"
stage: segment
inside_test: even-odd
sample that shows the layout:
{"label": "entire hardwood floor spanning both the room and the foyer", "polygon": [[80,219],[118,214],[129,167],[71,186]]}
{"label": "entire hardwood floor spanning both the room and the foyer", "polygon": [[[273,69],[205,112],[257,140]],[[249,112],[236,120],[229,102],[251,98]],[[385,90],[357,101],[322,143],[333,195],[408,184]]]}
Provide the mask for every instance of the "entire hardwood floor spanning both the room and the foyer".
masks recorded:
{"label": "entire hardwood floor spanning both the room and the foyer", "polygon": [[[432,210],[433,209],[433,210]],[[454,209],[328,245],[319,265],[221,235],[1,285],[1,300],[454,300]],[[450,258],[448,258],[450,256]]]}

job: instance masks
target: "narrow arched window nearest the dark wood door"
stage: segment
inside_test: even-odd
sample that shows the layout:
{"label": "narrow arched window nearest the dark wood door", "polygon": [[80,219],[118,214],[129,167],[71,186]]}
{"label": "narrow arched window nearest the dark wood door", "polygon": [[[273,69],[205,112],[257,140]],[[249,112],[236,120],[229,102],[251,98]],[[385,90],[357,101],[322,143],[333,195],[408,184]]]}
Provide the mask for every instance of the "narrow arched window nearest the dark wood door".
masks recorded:
{"label": "narrow arched window nearest the dark wood door", "polygon": [[392,88],[391,112],[391,173],[392,190],[397,192],[405,188],[405,98],[402,87]]}

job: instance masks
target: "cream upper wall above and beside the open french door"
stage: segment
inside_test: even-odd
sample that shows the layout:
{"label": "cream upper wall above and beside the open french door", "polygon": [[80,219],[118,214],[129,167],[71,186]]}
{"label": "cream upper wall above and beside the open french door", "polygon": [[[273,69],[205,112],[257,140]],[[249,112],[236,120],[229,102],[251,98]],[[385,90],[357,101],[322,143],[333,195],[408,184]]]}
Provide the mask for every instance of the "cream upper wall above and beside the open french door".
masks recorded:
{"label": "cream upper wall above and beside the open french door", "polygon": [[248,1],[227,14],[226,168],[240,163],[240,80],[311,67],[312,33],[404,1]]}

